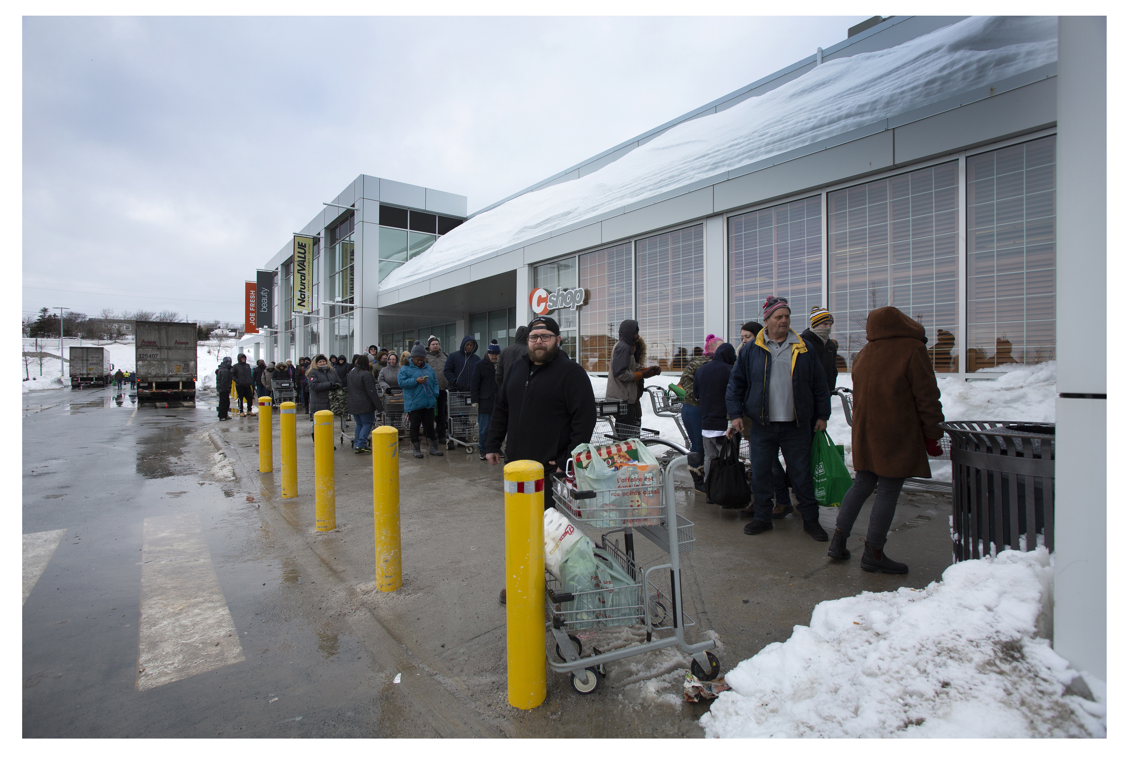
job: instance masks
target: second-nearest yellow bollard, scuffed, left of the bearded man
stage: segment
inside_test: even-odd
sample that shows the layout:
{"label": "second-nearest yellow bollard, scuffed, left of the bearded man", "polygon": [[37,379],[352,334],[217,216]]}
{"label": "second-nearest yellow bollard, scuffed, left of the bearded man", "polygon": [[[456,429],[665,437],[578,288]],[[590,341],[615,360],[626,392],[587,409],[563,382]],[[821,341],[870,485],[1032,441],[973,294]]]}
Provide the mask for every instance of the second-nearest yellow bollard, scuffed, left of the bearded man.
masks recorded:
{"label": "second-nearest yellow bollard, scuffed, left of the bearded man", "polygon": [[398,430],[371,432],[374,477],[374,583],[379,592],[402,586],[402,534],[398,512]]}

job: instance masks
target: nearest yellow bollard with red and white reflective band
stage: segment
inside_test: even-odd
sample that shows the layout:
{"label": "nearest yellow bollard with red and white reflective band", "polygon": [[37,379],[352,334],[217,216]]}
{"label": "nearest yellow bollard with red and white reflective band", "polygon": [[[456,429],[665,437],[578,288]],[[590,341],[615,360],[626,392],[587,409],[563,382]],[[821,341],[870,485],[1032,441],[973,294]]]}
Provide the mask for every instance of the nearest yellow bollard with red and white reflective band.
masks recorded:
{"label": "nearest yellow bollard with red and white reflective band", "polygon": [[546,580],[543,576],[543,464],[504,467],[507,560],[507,702],[524,711],[546,698]]}

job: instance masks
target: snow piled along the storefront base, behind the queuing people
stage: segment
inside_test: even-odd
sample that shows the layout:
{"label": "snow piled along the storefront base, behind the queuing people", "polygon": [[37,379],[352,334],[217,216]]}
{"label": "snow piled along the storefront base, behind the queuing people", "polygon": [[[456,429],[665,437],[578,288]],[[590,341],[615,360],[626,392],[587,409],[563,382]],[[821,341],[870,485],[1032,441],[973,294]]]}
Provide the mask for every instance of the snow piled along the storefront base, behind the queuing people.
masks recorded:
{"label": "snow piled along the storefront base, behind the queuing people", "polygon": [[[1036,366],[1013,364],[1007,367],[1007,373],[978,376],[997,376],[994,381],[964,381],[958,377],[941,377],[936,383],[941,388],[941,405],[946,421],[1054,421],[1054,397],[1057,396],[1058,363],[1050,361]],[[667,387],[679,381],[679,375],[664,373],[645,380],[645,386]],[[607,379],[590,375],[593,395],[605,397]],[[851,387],[851,375],[841,373],[839,387]],[[662,436],[671,442],[682,442],[682,434],[671,418],[655,415],[651,397],[645,395],[644,415],[641,424],[646,428],[660,430]],[[832,397],[832,417],[827,422],[827,434],[835,444],[844,448],[846,464],[851,463],[851,427],[843,416],[842,400]],[[952,480],[952,464],[949,461],[930,460],[933,478],[940,481]]]}

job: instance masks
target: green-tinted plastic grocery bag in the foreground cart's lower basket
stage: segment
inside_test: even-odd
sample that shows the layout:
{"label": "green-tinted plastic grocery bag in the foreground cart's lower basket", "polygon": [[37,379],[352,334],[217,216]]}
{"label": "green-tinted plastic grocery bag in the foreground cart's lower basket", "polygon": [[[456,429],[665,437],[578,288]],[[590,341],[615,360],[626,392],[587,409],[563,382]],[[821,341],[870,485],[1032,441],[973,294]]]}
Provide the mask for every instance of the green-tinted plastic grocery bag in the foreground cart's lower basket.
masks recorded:
{"label": "green-tinted plastic grocery bag in the foreground cart's lower basket", "polygon": [[574,598],[562,604],[562,611],[575,612],[569,621],[604,621],[638,615],[636,581],[605,550],[588,536],[575,540],[555,575],[562,592]]}

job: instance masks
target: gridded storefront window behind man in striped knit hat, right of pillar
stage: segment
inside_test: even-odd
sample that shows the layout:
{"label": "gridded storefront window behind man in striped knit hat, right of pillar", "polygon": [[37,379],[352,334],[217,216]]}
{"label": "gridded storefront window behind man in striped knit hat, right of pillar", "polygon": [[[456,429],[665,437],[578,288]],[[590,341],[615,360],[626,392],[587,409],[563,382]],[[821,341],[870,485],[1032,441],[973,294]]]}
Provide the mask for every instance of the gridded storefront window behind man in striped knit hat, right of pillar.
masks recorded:
{"label": "gridded storefront window behind man in striped knit hat, right of pillar", "polygon": [[770,295],[788,298],[792,328],[808,326],[823,305],[821,198],[807,198],[729,218],[729,339],[761,321]]}

